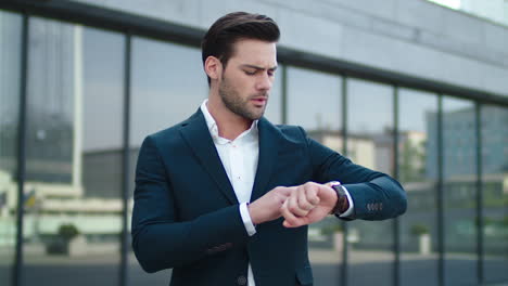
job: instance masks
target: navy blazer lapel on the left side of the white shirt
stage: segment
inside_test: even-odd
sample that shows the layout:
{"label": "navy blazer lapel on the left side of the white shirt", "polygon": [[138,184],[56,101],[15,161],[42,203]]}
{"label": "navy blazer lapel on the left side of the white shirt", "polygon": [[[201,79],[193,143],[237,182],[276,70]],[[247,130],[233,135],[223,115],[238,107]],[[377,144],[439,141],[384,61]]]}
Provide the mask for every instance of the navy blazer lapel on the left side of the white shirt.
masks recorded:
{"label": "navy blazer lapel on the left side of the white shirt", "polygon": [[183,123],[180,133],[226,198],[233,205],[239,204],[201,110]]}

